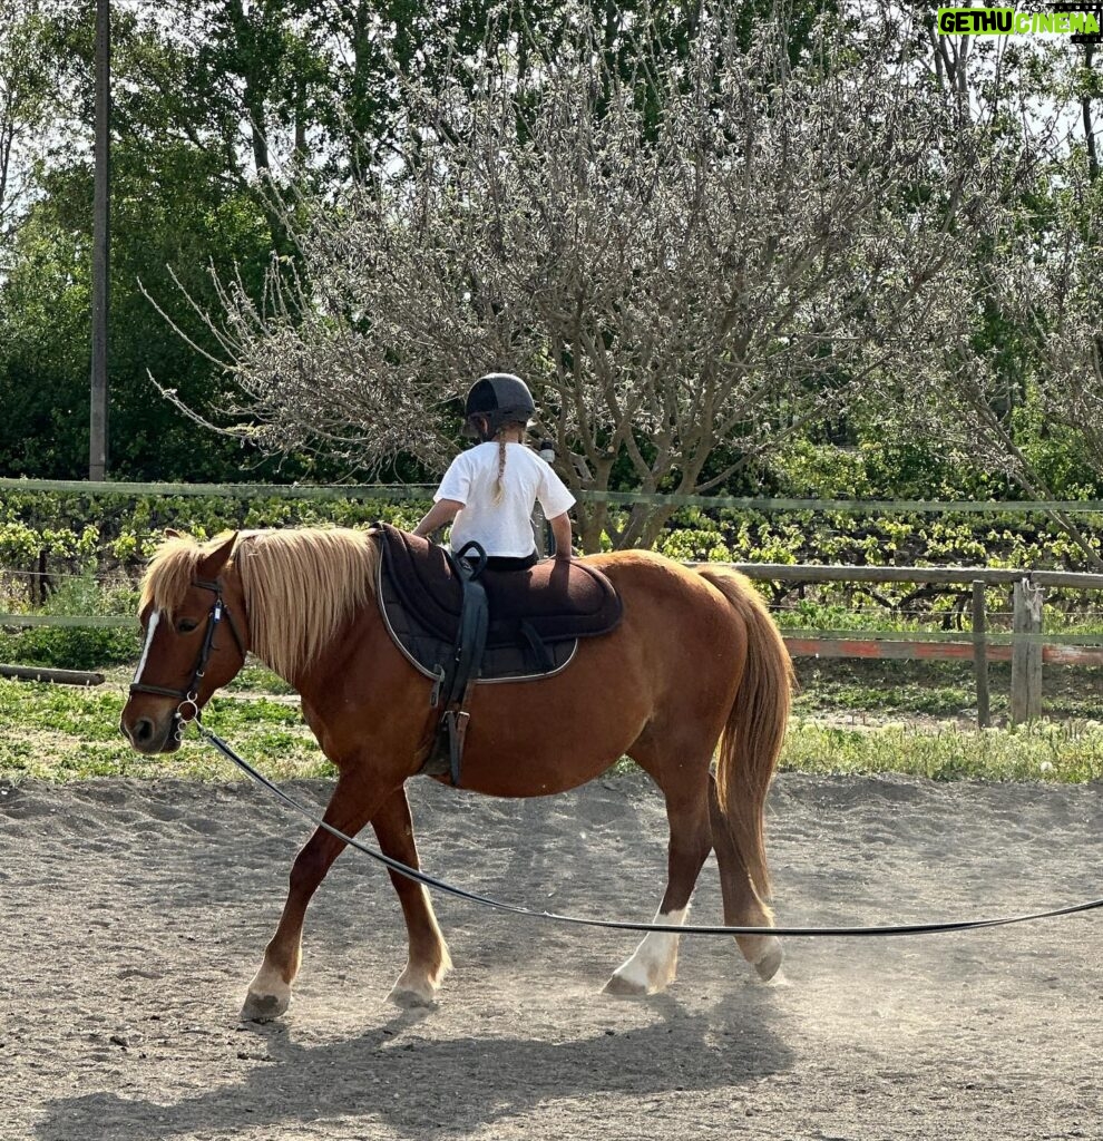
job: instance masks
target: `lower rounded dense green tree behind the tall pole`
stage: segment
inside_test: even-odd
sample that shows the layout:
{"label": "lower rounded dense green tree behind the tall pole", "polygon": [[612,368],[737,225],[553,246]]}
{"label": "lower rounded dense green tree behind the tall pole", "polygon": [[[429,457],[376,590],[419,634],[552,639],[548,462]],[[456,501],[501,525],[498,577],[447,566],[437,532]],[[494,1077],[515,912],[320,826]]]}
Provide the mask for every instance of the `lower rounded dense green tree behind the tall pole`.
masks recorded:
{"label": "lower rounded dense green tree behind the tall pole", "polygon": [[[91,173],[58,170],[15,237],[0,285],[0,470],[76,478],[88,456]],[[114,334],[112,471],[116,478],[222,480],[240,477],[245,458],[227,439],[198,434],[157,399],[155,372],[195,400],[218,399],[222,381],[194,353],[181,350],[138,289],[139,278],[185,319],[167,266],[197,297],[213,301],[209,266],[236,265],[252,290],[262,283],[270,249],[265,219],[246,195],[227,196],[203,155],[186,146],[115,151],[112,259]]]}

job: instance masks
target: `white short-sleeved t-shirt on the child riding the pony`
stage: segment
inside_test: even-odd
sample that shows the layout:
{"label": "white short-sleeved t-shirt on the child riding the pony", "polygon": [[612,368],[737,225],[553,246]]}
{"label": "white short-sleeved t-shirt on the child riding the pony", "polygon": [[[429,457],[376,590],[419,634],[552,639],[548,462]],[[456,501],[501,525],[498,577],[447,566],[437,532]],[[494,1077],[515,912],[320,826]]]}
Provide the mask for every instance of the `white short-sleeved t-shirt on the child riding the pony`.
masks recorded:
{"label": "white short-sleeved t-shirt on the child riding the pony", "polygon": [[533,504],[538,500],[544,515],[554,519],[574,505],[575,497],[535,452],[522,444],[506,444],[502,499],[495,503],[497,469],[497,443],[478,444],[452,461],[433,499],[463,504],[452,524],[454,551],[473,539],[487,555],[521,559],[536,549]]}

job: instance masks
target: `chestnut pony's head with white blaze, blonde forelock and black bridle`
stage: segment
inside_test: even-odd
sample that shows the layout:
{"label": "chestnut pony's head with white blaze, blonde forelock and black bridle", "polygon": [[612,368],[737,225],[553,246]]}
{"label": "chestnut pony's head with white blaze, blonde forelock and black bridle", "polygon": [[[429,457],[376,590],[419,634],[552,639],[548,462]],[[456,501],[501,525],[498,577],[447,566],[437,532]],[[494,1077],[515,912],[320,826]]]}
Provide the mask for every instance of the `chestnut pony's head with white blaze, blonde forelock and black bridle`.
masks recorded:
{"label": "chestnut pony's head with white blaze, blonde forelock and black bridle", "polygon": [[237,535],[201,545],[169,532],[149,561],[139,602],[141,658],[120,728],[139,753],[180,747],[194,720],[245,662],[249,628],[230,556]]}

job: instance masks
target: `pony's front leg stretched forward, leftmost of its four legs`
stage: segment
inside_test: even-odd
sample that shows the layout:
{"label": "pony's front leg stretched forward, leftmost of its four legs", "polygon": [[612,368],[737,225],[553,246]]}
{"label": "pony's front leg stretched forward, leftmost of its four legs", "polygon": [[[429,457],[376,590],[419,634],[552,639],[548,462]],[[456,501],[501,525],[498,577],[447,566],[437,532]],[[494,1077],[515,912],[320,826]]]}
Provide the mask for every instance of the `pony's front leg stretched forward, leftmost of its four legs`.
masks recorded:
{"label": "pony's front leg stretched forward, leftmost of its four legs", "polygon": [[[365,787],[364,782],[341,776],[323,819],[347,836],[355,836],[378,806],[378,793]],[[338,840],[325,828],[318,828],[295,857],[279,925],[265,949],[260,970],[249,984],[249,994],[242,1008],[245,1021],[270,1021],[291,1004],[291,985],[302,962],[302,923],[307,906],[344,848],[343,840]]]}

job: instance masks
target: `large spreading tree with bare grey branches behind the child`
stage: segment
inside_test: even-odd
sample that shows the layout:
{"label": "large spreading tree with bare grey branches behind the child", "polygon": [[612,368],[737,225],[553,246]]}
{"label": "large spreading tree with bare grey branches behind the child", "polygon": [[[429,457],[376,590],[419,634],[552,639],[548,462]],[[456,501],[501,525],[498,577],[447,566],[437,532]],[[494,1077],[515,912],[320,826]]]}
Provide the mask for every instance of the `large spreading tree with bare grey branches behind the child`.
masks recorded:
{"label": "large spreading tree with bare grey branches behind the child", "polygon": [[[253,420],[226,430],[350,468],[441,463],[449,398],[504,367],[576,492],[619,466],[694,493],[857,383],[927,367],[986,165],[887,38],[794,63],[782,27],[745,47],[735,11],[701,6],[682,57],[644,27],[613,66],[579,8],[554,52],[488,46],[475,88],[411,81],[402,162],[313,209],[265,304],[224,283],[224,411]],[[667,515],[587,502],[584,545],[648,544]]]}

